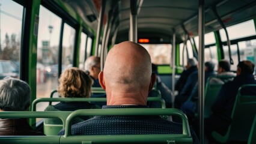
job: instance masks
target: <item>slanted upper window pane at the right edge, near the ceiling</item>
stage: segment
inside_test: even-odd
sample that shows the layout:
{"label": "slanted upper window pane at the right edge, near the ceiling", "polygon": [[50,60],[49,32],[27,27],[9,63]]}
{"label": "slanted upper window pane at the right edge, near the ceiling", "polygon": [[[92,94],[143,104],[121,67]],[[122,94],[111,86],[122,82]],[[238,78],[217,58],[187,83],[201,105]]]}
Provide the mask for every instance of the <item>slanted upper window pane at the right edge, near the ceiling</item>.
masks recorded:
{"label": "slanted upper window pane at the right edge, near the ceiling", "polygon": [[[243,29],[243,31],[241,31],[241,29]],[[230,40],[256,35],[254,20],[248,20],[247,22],[227,27],[227,31]],[[221,34],[221,40],[227,41],[224,29],[219,30],[219,33]]]}

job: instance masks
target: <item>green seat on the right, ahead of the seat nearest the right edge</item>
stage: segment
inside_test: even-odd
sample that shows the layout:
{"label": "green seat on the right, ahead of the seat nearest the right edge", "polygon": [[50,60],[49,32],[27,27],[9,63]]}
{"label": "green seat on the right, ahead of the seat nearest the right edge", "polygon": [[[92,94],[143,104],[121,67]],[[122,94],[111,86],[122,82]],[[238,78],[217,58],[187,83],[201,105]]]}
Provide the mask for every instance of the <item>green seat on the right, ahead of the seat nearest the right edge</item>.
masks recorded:
{"label": "green seat on the right, ahead of the seat nearest the right edge", "polygon": [[212,105],[216,99],[216,97],[219,94],[219,91],[221,90],[221,87],[223,83],[220,84],[211,84],[210,80],[211,79],[231,79],[233,78],[232,76],[210,76],[207,79],[206,82],[206,91],[205,91],[205,96],[204,96],[204,118],[208,118],[210,114],[212,114]]}

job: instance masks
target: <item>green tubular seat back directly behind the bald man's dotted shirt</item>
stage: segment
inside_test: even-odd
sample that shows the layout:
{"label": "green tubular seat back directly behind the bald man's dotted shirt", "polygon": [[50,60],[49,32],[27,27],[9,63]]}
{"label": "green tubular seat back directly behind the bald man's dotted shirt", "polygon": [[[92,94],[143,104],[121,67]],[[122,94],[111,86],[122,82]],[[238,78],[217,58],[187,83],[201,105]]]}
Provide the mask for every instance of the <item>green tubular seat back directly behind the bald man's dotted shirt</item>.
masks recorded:
{"label": "green tubular seat back directly behind the bald man's dotted shirt", "polygon": [[[90,135],[72,136],[71,121],[77,116],[90,115],[176,115],[182,119],[183,134],[126,134],[126,135]],[[64,136],[60,143],[192,143],[189,124],[181,110],[178,109],[90,109],[76,110],[66,120]]]}

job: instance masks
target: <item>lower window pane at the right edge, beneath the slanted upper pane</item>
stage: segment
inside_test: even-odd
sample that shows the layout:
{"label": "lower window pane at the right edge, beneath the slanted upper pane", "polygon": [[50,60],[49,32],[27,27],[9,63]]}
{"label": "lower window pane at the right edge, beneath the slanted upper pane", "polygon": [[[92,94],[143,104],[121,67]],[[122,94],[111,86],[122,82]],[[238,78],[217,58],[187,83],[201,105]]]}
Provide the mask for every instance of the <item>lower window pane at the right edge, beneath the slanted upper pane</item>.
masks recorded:
{"label": "lower window pane at the right edge, beneath the slanted upper pane", "polygon": [[238,46],[240,51],[240,61],[247,59],[255,64],[256,40],[240,41]]}

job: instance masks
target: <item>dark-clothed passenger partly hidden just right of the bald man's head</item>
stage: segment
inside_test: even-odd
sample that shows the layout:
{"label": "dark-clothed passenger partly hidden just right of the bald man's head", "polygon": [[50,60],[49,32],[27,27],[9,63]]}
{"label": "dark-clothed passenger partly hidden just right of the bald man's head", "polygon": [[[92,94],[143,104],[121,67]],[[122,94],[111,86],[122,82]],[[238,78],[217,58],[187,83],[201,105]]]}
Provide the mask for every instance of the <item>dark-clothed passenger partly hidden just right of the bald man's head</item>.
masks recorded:
{"label": "dark-clothed passenger partly hidden just right of the bald man's head", "polygon": [[[152,72],[156,74],[156,89],[160,91],[161,97],[163,100],[165,100],[166,108],[171,108],[172,107],[172,91],[165,85],[165,83],[161,82],[160,77],[158,76],[158,71],[157,71],[157,65],[152,64]],[[154,92],[151,91],[148,94],[148,97],[155,97]],[[160,107],[160,105],[157,103],[150,103],[150,107]]]}

